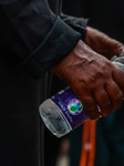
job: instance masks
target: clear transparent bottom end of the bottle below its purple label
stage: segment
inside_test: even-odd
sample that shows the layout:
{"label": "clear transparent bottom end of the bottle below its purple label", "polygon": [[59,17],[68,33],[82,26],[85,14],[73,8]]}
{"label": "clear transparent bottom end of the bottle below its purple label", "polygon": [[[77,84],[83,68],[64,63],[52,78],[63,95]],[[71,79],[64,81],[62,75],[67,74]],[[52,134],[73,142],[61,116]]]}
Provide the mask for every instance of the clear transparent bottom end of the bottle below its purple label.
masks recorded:
{"label": "clear transparent bottom end of the bottle below its purple label", "polygon": [[56,136],[61,137],[72,131],[68,120],[60,108],[49,98],[40,106],[40,115],[45,126]]}

